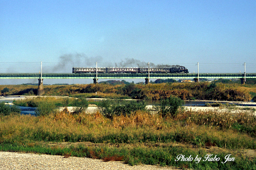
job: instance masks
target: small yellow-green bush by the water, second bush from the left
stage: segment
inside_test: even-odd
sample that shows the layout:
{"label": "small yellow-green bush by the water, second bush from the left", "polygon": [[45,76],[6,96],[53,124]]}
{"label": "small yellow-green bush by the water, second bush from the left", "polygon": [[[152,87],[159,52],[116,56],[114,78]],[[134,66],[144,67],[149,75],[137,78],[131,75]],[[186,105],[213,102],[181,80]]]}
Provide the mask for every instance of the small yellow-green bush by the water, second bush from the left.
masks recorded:
{"label": "small yellow-green bush by the water, second bush from the left", "polygon": [[40,102],[35,110],[37,116],[46,116],[50,113],[56,112],[56,105],[52,102]]}

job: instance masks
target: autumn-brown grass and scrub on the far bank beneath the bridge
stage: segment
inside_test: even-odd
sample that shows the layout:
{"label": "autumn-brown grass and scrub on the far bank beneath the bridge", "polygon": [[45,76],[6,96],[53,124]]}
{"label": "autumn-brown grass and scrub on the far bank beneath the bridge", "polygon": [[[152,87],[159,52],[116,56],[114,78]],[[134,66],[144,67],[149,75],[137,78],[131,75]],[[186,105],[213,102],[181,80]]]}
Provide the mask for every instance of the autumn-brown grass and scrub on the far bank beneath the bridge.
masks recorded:
{"label": "autumn-brown grass and scrub on the far bank beneath the bridge", "polygon": [[[8,88],[8,90],[7,90]],[[5,89],[5,90],[4,90]],[[37,86],[0,85],[2,95],[35,95]],[[86,98],[147,99],[161,100],[170,96],[182,100],[250,101],[255,99],[256,85],[223,83],[160,83],[148,85],[45,85],[48,96],[71,96]],[[97,95],[95,94],[97,92]]]}

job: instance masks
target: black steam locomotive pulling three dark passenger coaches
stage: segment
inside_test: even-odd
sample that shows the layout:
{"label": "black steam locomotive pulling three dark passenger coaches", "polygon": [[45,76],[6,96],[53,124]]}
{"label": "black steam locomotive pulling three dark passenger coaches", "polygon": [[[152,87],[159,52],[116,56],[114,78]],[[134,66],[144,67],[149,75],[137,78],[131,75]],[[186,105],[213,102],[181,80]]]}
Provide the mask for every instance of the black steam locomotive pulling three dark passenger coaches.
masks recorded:
{"label": "black steam locomotive pulling three dark passenger coaches", "polygon": [[[98,67],[98,73],[148,73],[148,68],[124,68],[124,67]],[[188,73],[185,67],[172,68],[149,68],[150,73]],[[96,68],[73,67],[72,73],[96,73]]]}

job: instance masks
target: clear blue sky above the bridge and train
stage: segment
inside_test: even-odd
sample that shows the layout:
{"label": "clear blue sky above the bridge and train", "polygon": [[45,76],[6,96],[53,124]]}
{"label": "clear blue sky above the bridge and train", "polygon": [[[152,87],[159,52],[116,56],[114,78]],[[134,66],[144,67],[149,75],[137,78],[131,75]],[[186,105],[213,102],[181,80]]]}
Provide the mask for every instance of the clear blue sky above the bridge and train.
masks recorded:
{"label": "clear blue sky above the bridge and train", "polygon": [[0,25],[1,73],[39,72],[40,61],[44,72],[71,73],[131,59],[190,72],[199,62],[204,73],[244,72],[245,62],[256,72],[255,0],[2,0]]}

